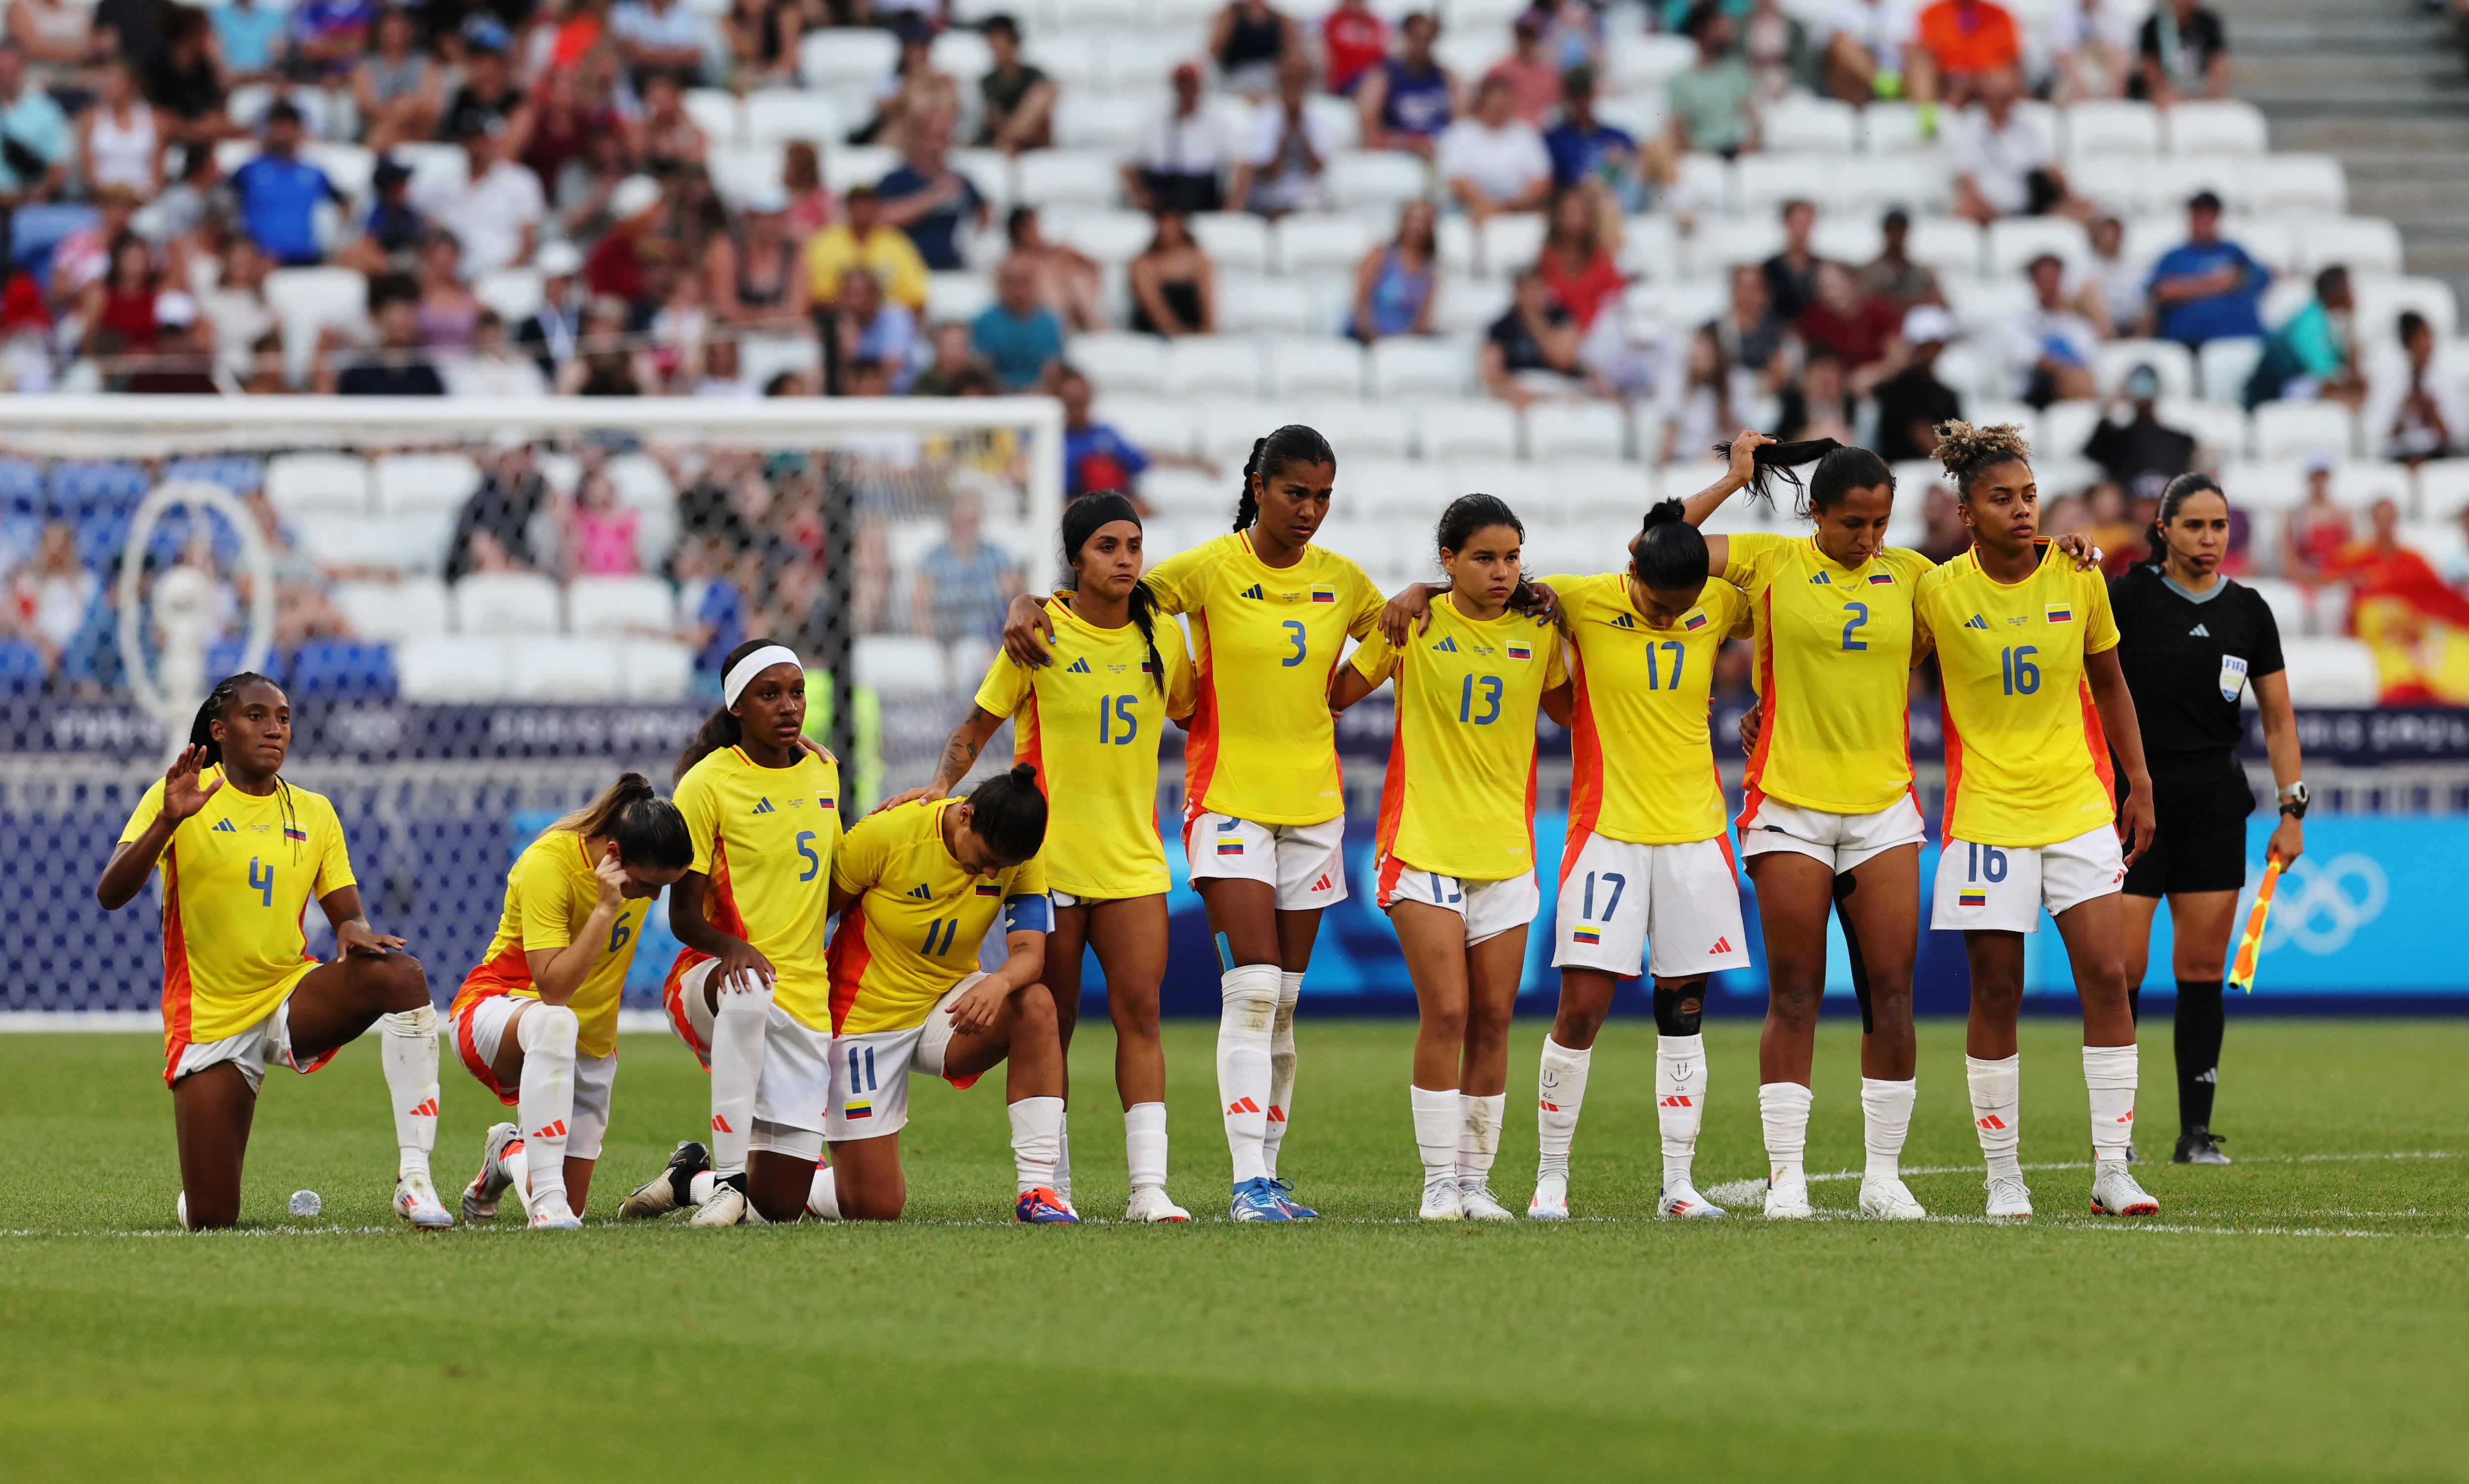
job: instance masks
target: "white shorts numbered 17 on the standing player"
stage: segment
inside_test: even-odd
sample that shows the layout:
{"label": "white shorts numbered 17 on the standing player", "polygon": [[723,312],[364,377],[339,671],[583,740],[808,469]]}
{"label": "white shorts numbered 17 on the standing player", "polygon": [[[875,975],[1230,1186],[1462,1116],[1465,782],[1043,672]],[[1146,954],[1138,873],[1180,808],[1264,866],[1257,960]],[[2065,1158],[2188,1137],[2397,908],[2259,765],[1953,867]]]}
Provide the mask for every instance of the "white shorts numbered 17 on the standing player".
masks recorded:
{"label": "white shorts numbered 17 on the standing player", "polygon": [[1585,835],[1563,862],[1553,968],[1600,968],[1617,978],[1652,970],[1674,980],[1748,968],[1741,877],[1726,837],[1632,844]]}

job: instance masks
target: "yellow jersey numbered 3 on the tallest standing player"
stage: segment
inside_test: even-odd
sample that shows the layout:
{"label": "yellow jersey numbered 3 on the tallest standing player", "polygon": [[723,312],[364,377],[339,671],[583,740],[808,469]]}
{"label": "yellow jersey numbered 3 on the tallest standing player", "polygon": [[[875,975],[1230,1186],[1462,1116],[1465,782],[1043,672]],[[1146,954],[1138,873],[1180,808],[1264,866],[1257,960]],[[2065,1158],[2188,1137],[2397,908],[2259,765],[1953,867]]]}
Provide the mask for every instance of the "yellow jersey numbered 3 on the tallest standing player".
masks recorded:
{"label": "yellow jersey numbered 3 on the tallest standing player", "polygon": [[1346,635],[1380,617],[1380,590],[1321,546],[1272,568],[1232,531],[1143,578],[1163,612],[1193,620],[1200,694],[1183,743],[1185,812],[1318,825],[1346,810],[1328,677]]}

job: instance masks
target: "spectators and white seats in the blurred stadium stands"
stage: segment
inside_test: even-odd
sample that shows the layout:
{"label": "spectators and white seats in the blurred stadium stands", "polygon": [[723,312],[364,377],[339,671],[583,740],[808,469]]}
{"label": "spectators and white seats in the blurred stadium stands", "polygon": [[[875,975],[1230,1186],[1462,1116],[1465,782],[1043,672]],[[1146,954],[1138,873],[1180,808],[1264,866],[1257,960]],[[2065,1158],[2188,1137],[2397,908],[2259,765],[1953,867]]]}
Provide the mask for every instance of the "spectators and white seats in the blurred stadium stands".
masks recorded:
{"label": "spectators and white seats in the blurred stadium stands", "polygon": [[[2232,94],[2202,0],[10,0],[0,385],[1042,393],[1069,489],[1168,521],[1299,398],[1432,504],[1452,457],[1644,494],[1743,422],[1916,462],[2015,417],[2049,526],[2118,563],[2202,464],[2247,474],[2239,570],[2469,575],[2449,289]],[[442,575],[699,583],[709,654],[810,600],[812,501],[760,459],[672,462],[649,536],[509,459]],[[252,499],[291,637],[348,637]],[[1960,548],[1941,489],[1904,504]],[[7,620],[72,674],[96,553],[10,519]],[[993,622],[1017,563],[973,521],[869,625]]]}

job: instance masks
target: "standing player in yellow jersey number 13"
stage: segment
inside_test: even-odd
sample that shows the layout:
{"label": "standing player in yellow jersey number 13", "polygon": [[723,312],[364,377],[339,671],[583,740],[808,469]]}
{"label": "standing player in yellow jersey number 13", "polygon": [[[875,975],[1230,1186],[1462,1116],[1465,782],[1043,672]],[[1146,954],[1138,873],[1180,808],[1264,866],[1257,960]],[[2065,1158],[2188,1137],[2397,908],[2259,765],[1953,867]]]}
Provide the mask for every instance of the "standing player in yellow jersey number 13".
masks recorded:
{"label": "standing player in yellow jersey number 13", "polygon": [[1568,686],[1555,635],[1511,610],[1526,526],[1489,494],[1439,516],[1449,593],[1405,644],[1373,632],[1338,669],[1328,709],[1397,682],[1380,790],[1380,911],[1397,928],[1422,1027],[1407,1101],[1422,1153],[1422,1220],[1516,1220],[1491,1195],[1509,1086],[1509,1017],[1536,886],[1536,714]]}

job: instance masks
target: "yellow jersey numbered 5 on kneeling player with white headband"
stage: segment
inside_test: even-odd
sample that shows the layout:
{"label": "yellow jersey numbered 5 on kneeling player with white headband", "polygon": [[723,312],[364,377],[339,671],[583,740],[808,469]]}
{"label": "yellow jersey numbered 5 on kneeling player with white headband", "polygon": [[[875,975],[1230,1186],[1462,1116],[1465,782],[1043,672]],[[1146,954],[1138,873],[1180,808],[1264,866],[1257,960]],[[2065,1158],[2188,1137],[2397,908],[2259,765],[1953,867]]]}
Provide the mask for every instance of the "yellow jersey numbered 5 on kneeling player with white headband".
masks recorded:
{"label": "yellow jersey numbered 5 on kneeling player with white headband", "polygon": [[[677,780],[677,810],[694,837],[694,867],[711,877],[704,916],[770,958],[773,1005],[807,1030],[830,1030],[832,975],[822,936],[839,849],[839,765],[797,753],[763,768],[743,748],[721,748]],[[709,958],[686,948],[674,978]]]}

